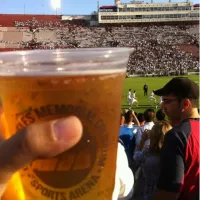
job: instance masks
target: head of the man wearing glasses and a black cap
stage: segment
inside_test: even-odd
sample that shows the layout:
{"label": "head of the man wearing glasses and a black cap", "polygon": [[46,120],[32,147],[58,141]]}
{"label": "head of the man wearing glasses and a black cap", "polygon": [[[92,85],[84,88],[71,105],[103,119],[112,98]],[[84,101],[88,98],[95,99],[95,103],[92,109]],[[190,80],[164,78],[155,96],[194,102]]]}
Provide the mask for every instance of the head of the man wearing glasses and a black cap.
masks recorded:
{"label": "head of the man wearing glasses and a black cap", "polygon": [[175,124],[198,116],[199,86],[186,77],[176,77],[154,92],[163,97],[162,109]]}

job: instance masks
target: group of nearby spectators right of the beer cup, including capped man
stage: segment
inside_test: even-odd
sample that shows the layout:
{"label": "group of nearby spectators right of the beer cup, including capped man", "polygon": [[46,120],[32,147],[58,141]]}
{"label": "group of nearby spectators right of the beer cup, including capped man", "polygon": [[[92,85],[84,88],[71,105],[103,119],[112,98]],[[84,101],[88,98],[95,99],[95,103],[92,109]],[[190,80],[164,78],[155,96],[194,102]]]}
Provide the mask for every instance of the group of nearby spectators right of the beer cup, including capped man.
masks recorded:
{"label": "group of nearby spectators right of the beer cup, including capped man", "polygon": [[[119,144],[125,148],[129,166],[124,171],[132,171],[134,175],[134,184],[122,179],[124,191],[129,190],[132,196],[127,198],[126,191],[124,199],[197,200],[199,86],[178,77],[154,92],[163,96],[157,112],[153,108],[141,113],[125,109],[121,114]],[[183,102],[190,106],[184,106]],[[128,187],[131,184],[132,190]]]}

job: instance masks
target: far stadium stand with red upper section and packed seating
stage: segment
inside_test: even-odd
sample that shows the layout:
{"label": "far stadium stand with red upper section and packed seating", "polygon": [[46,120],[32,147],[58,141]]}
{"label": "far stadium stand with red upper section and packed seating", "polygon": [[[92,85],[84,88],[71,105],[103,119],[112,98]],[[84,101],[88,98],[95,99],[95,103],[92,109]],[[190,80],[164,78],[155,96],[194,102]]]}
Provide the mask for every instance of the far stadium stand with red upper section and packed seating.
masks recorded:
{"label": "far stadium stand with red upper section and packed seating", "polygon": [[199,25],[86,27],[55,15],[0,15],[0,24],[0,51],[133,47],[128,75],[199,71]]}

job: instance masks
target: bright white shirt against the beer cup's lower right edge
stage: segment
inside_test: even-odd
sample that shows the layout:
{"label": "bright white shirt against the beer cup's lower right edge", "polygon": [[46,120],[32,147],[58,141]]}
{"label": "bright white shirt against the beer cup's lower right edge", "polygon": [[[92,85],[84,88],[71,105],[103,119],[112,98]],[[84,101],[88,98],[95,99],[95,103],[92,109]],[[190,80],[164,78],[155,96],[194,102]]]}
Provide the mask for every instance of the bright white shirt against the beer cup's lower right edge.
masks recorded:
{"label": "bright white shirt against the beer cup's lower right edge", "polygon": [[133,195],[134,177],[124,147],[118,143],[115,188],[112,200],[128,200]]}

